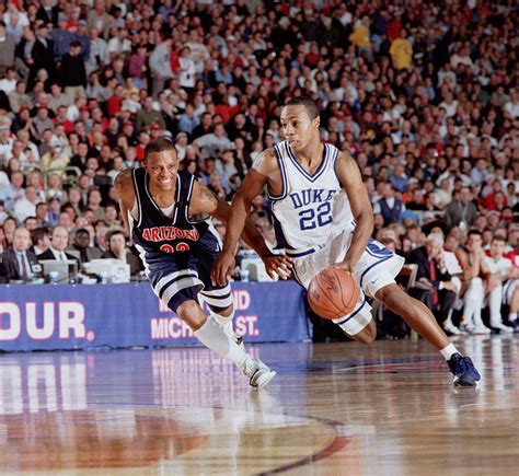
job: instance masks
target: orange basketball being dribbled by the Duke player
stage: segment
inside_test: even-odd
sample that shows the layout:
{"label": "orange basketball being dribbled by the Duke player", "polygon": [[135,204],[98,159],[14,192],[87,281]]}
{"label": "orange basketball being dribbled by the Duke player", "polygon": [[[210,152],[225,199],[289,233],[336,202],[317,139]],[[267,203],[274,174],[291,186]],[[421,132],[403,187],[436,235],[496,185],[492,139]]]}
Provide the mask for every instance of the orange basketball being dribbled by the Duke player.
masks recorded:
{"label": "orange basketball being dribbled by the Duke player", "polygon": [[359,298],[359,288],[351,275],[341,268],[325,268],[310,282],[308,302],[312,311],[325,320],[349,314]]}

